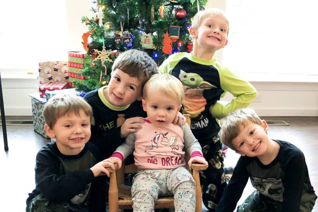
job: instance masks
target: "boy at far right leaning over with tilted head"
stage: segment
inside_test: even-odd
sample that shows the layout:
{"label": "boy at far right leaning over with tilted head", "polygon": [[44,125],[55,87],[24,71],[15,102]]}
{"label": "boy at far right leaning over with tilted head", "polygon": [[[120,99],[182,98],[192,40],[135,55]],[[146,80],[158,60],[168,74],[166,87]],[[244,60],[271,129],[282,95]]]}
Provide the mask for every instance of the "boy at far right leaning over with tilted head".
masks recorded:
{"label": "boy at far right leaning over with tilted head", "polygon": [[309,212],[317,196],[305,156],[293,144],[268,137],[255,111],[238,109],[222,120],[222,142],[240,154],[216,211],[233,211],[248,178],[256,190],[237,211]]}

